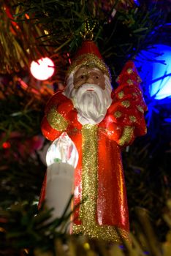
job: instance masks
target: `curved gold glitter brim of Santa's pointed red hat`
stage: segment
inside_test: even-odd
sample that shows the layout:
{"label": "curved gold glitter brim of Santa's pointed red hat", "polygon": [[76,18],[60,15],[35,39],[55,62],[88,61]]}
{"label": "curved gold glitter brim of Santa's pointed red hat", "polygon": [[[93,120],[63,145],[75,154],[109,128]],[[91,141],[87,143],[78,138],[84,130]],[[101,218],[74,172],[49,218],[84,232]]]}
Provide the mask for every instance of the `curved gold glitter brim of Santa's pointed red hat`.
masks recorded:
{"label": "curved gold glitter brim of Santa's pointed red hat", "polygon": [[87,54],[83,54],[81,56],[79,56],[77,59],[75,59],[75,61],[72,62],[72,64],[70,65],[69,69],[66,72],[66,78],[70,75],[70,73],[77,67],[97,67],[100,70],[102,70],[102,72],[104,74],[106,74],[111,81],[111,75],[110,75],[110,70],[107,67],[107,65],[104,63],[104,61],[102,61],[102,59],[99,59],[96,55],[92,54],[92,53],[87,53]]}

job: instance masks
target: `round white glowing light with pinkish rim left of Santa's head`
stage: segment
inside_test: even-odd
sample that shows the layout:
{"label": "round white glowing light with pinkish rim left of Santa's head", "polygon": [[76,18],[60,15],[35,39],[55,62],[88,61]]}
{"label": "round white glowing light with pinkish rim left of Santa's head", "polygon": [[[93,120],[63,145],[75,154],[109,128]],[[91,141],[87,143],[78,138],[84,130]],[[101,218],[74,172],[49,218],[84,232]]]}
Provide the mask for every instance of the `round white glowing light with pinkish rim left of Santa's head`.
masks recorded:
{"label": "round white glowing light with pinkish rim left of Santa's head", "polygon": [[32,61],[30,70],[37,80],[47,80],[53,75],[55,68],[53,61],[46,57],[38,61]]}

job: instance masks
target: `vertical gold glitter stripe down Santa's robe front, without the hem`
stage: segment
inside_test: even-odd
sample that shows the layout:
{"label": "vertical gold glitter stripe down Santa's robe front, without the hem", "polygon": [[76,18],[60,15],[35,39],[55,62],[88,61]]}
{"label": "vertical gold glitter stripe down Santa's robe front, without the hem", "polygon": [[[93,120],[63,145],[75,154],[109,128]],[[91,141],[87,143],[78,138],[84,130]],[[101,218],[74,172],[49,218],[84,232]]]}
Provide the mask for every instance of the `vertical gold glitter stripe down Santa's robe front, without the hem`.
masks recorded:
{"label": "vertical gold glitter stripe down Santa's robe front, without the hem", "polygon": [[86,124],[82,127],[83,170],[82,200],[80,219],[87,228],[95,223],[97,197],[97,126]]}

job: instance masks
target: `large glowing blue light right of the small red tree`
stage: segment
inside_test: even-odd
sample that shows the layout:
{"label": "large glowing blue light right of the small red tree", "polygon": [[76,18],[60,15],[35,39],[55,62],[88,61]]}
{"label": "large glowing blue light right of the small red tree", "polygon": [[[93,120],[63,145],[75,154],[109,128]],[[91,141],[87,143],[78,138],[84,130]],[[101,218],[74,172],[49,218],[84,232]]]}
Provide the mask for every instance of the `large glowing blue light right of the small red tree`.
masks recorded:
{"label": "large glowing blue light right of the small red tree", "polygon": [[135,62],[151,97],[154,99],[171,97],[170,46],[153,45],[153,48],[142,50]]}

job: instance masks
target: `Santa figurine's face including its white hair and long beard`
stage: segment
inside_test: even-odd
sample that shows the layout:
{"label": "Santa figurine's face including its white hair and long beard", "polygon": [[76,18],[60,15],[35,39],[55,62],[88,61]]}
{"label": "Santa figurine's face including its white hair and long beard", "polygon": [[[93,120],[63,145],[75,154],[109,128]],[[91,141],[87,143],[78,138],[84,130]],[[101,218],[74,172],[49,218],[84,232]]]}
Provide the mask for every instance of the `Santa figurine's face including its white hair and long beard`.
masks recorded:
{"label": "Santa figurine's face including its white hair and long beard", "polygon": [[80,67],[74,75],[69,75],[64,94],[72,99],[77,119],[84,125],[102,121],[112,102],[111,91],[110,80],[101,70]]}

